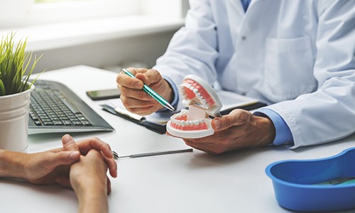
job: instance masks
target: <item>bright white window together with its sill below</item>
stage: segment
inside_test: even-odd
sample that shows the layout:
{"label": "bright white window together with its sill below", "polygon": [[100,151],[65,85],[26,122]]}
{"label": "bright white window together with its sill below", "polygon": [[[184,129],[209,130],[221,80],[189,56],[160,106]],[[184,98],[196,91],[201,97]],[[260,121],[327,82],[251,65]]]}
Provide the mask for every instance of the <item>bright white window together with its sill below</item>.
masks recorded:
{"label": "bright white window together with its sill below", "polygon": [[187,0],[0,0],[0,38],[15,31],[42,51],[183,25]]}

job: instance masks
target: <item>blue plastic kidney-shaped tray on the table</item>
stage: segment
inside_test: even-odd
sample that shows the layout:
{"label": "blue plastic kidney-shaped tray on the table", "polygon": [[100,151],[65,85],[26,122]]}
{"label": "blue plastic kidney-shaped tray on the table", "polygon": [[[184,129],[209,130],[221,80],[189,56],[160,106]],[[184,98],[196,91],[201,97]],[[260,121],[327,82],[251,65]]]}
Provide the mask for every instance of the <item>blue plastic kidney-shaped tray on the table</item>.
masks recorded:
{"label": "blue plastic kidney-shaped tray on the table", "polygon": [[[303,212],[355,208],[355,148],[316,160],[282,160],[266,168],[278,204]],[[334,184],[343,178],[354,178]]]}

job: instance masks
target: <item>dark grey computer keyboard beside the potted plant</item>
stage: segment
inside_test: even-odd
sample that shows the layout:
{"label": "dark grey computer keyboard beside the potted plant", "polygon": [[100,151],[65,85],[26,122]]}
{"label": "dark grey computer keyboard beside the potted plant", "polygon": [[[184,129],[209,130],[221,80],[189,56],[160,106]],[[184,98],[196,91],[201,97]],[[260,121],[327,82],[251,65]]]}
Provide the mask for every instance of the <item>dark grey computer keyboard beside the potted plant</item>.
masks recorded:
{"label": "dark grey computer keyboard beside the potted plant", "polygon": [[83,131],[114,129],[64,84],[36,80],[31,93],[28,133]]}

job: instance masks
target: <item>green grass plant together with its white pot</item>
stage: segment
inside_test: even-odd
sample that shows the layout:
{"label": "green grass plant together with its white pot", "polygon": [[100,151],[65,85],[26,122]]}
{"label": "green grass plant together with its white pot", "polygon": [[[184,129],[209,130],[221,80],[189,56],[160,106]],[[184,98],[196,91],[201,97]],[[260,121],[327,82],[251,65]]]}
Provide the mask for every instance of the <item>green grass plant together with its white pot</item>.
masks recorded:
{"label": "green grass plant together with its white pot", "polygon": [[1,38],[0,43],[0,149],[26,152],[30,95],[35,82],[29,77],[40,58],[25,52],[27,39],[15,45],[14,35]]}

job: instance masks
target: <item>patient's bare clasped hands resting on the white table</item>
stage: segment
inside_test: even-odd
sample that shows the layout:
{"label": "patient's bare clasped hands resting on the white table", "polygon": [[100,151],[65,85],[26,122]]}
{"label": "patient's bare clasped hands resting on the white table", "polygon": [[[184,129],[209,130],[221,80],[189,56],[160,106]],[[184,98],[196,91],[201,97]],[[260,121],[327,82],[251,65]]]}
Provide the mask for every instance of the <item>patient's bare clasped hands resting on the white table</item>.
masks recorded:
{"label": "patient's bare clasped hands resting on the white table", "polygon": [[87,138],[77,143],[70,135],[62,137],[62,148],[40,153],[17,153],[21,167],[15,177],[33,184],[59,184],[65,187],[84,187],[85,182],[104,182],[107,193],[113,178],[117,177],[117,164],[109,144],[99,138]]}

